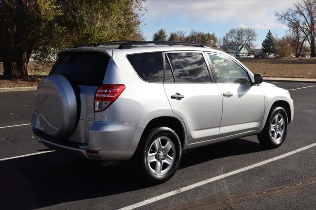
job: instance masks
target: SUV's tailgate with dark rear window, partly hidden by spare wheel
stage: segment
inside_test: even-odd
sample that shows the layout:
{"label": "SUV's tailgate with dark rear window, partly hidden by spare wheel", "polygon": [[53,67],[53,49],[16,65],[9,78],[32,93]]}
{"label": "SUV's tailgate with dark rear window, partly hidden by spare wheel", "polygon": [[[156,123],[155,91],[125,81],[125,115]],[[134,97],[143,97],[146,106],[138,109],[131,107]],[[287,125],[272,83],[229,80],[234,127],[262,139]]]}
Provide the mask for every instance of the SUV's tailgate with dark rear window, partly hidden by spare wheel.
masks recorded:
{"label": "SUV's tailgate with dark rear window, partly hidden by spare wheel", "polygon": [[79,88],[81,120],[94,120],[94,94],[103,83],[109,59],[103,52],[64,52],[51,72],[65,76],[74,89]]}

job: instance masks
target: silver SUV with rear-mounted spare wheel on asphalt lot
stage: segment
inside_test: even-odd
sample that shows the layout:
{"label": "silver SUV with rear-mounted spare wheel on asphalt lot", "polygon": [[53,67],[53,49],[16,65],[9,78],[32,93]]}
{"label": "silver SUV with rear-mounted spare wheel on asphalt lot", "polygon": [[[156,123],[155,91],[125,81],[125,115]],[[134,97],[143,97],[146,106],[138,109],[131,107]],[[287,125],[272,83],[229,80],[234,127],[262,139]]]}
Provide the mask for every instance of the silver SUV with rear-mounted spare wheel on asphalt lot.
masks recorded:
{"label": "silver SUV with rear-mounted spare wheel on asphalt lot", "polygon": [[152,182],[174,175],[184,150],[249,135],[278,147],[293,120],[287,90],[200,44],[106,42],[58,57],[38,86],[37,139],[91,160],[132,160]]}

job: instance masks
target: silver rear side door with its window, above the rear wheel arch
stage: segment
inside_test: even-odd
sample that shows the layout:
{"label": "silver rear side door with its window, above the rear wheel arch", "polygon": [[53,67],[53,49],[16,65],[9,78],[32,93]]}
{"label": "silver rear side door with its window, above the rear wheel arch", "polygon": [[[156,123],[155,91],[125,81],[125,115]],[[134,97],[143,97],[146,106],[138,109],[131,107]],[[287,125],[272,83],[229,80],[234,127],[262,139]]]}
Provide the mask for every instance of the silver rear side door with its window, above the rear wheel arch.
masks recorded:
{"label": "silver rear side door with its window, above the rear wheel arch", "polygon": [[164,63],[164,90],[173,112],[185,122],[188,143],[217,138],[222,97],[204,53],[166,52]]}

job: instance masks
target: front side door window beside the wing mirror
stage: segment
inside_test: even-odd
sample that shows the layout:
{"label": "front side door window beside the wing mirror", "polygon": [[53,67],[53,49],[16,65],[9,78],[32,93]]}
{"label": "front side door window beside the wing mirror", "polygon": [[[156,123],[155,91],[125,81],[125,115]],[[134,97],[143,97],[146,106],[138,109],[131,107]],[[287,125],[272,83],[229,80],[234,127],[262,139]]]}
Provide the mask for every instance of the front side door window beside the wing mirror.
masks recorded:
{"label": "front side door window beside the wing mirror", "polygon": [[216,82],[249,84],[247,72],[234,61],[218,55],[209,54],[208,56],[214,67]]}

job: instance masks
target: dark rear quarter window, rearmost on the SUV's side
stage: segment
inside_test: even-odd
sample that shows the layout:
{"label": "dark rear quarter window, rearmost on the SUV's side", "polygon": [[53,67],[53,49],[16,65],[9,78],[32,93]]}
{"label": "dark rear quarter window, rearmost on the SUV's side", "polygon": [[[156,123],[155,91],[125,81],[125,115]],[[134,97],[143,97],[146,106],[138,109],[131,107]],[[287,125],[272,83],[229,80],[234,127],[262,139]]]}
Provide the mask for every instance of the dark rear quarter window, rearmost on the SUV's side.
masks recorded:
{"label": "dark rear quarter window, rearmost on the SUV's side", "polygon": [[127,59],[143,80],[163,82],[162,52],[127,55]]}

